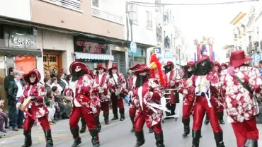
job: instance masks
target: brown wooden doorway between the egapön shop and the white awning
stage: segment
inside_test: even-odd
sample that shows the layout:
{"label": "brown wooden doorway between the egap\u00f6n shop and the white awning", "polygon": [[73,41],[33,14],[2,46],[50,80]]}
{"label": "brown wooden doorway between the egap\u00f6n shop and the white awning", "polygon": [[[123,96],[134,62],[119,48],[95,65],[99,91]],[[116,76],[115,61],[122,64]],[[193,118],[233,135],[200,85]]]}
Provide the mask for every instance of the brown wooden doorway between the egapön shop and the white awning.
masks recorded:
{"label": "brown wooden doorway between the egap\u00f6n shop and the white awning", "polygon": [[44,72],[49,71],[51,78],[53,76],[59,76],[60,71],[62,71],[61,52],[44,50],[43,62],[44,62]]}

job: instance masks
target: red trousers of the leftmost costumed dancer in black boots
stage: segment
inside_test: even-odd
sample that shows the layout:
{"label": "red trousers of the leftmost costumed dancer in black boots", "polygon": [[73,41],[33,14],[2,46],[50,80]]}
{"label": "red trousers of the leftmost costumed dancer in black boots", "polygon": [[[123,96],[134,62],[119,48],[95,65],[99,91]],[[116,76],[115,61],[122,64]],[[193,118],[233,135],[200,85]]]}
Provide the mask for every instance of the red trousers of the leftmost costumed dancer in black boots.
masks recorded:
{"label": "red trousers of the leftmost costumed dancer in black boots", "polygon": [[[38,118],[38,121],[40,122],[40,125],[43,130],[50,130],[50,124],[48,122],[48,116],[45,114],[45,116]],[[23,122],[23,129],[25,131],[30,130],[33,127],[33,124],[35,123],[35,119],[32,117],[26,116],[25,122]]]}

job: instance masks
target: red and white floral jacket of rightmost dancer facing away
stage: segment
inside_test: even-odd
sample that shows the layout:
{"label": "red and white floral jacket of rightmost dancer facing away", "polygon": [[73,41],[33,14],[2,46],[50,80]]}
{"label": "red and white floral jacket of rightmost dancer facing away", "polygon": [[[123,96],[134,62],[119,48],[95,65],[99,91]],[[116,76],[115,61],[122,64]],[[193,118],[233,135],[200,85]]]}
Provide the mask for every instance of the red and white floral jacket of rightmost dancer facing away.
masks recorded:
{"label": "red and white floral jacket of rightmost dancer facing away", "polygon": [[[229,70],[229,69],[227,69]],[[224,103],[229,123],[244,122],[252,119],[258,112],[253,96],[244,88],[236,75],[242,82],[248,84],[258,98],[262,95],[262,80],[258,69],[251,66],[240,66],[234,69],[234,73],[222,71],[220,84],[225,95]]]}

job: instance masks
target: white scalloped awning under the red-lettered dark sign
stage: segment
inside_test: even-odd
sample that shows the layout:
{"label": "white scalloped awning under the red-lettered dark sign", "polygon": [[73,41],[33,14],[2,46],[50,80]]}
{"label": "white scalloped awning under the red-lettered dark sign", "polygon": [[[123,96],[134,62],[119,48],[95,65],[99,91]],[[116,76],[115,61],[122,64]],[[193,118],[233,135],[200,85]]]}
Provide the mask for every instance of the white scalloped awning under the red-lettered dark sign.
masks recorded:
{"label": "white scalloped awning under the red-lettered dark sign", "polygon": [[111,54],[89,54],[84,52],[74,52],[76,59],[98,59],[98,60],[114,60]]}

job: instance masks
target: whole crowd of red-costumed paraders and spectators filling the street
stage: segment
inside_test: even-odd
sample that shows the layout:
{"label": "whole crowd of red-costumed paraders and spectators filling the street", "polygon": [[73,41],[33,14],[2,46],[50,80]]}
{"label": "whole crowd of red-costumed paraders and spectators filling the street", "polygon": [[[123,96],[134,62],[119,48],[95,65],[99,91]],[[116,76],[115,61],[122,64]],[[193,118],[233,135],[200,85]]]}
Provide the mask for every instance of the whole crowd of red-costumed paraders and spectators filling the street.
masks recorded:
{"label": "whole crowd of red-costumed paraders and spectators filling the street", "polygon": [[[46,146],[51,147],[54,143],[50,125],[60,119],[69,119],[74,139],[72,147],[81,143],[79,133],[86,129],[93,147],[98,147],[103,141],[98,135],[102,129],[99,114],[103,111],[103,121],[109,124],[109,110],[112,109],[111,120],[123,121],[123,100],[128,99],[131,132],[137,138],[135,146],[145,143],[143,126],[146,124],[149,132],[154,133],[156,146],[164,147],[161,122],[176,117],[180,93],[183,95],[184,126],[181,134],[186,137],[191,130],[192,147],[200,144],[203,122],[210,123],[216,146],[227,146],[220,127],[224,124],[224,112],[227,122],[232,124],[237,147],[258,147],[256,124],[262,123],[259,113],[262,111],[262,80],[259,69],[249,66],[249,61],[251,58],[245,57],[242,50],[232,52],[229,65],[212,61],[203,54],[199,61],[189,61],[182,66],[181,74],[172,61],[163,66],[159,54],[152,54],[150,65],[135,64],[128,69],[128,77],[118,72],[117,65],[107,69],[98,64],[94,73],[86,64],[74,61],[69,66],[70,75],[64,69],[58,76],[56,72],[50,75],[47,71],[44,83],[40,81],[38,69],[23,74],[9,68],[4,80],[8,117],[0,111],[0,131],[6,132],[9,127],[13,131],[23,129],[23,147],[28,147],[32,146],[33,124],[38,122],[44,131]],[[3,103],[1,100],[0,105]],[[190,115],[193,115],[192,127]]]}

